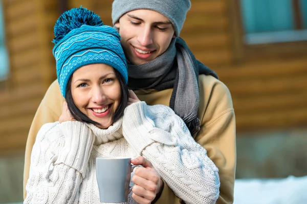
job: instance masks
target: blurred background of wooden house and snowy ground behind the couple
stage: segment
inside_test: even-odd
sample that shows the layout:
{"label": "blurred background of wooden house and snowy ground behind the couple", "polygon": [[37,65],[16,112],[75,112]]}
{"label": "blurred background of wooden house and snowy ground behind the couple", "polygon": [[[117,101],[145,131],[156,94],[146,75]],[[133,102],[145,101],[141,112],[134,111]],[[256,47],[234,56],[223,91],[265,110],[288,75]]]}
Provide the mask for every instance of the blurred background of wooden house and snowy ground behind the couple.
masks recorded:
{"label": "blurred background of wooden house and snowy ground behind the couple", "polygon": [[[56,79],[51,42],[56,19],[82,5],[111,25],[112,2],[0,0],[0,203],[23,201],[29,127]],[[181,37],[233,98],[235,203],[305,203],[259,200],[261,190],[277,191],[274,181],[292,182],[288,193],[300,181],[299,189],[307,191],[302,182],[307,180],[307,0],[191,3]]]}

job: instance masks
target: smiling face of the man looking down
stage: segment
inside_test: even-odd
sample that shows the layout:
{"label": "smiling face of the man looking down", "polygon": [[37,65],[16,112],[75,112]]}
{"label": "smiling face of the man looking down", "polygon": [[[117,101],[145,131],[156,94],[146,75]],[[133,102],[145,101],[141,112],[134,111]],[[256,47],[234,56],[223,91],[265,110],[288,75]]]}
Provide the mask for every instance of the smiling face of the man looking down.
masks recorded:
{"label": "smiling face of the man looking down", "polygon": [[124,14],[115,26],[119,28],[126,58],[136,65],[150,62],[163,54],[175,37],[169,19],[147,9]]}

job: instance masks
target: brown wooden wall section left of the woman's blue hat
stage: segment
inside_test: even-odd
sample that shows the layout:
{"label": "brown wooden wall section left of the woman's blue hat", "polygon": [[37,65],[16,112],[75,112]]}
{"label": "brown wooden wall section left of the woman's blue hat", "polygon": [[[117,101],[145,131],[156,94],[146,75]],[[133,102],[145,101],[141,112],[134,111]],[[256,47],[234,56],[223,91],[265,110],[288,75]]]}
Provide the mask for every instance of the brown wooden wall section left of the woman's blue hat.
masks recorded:
{"label": "brown wooden wall section left of the woman's blue hat", "polygon": [[3,0],[10,75],[0,90],[0,154],[24,150],[35,111],[56,78],[56,1]]}

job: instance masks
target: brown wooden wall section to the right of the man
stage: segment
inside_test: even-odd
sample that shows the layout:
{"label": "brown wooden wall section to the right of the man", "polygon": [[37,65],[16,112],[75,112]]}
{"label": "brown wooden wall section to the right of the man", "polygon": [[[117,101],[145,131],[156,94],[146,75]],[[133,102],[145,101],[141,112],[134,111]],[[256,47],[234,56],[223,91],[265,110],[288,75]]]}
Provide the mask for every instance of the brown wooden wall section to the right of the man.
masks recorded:
{"label": "brown wooden wall section to the right of the man", "polygon": [[237,132],[307,127],[307,42],[246,45],[238,0],[192,0],[181,36],[233,98]]}

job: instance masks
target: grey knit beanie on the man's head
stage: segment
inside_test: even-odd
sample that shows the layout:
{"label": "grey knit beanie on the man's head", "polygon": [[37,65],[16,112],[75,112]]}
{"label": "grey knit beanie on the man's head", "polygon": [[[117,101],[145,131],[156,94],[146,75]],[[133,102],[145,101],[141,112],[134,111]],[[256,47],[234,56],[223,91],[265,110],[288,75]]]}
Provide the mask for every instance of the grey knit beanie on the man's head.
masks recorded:
{"label": "grey knit beanie on the man's head", "polygon": [[190,0],[114,0],[112,20],[115,24],[122,15],[129,11],[149,9],[167,17],[173,24],[176,36],[179,36],[190,7]]}

